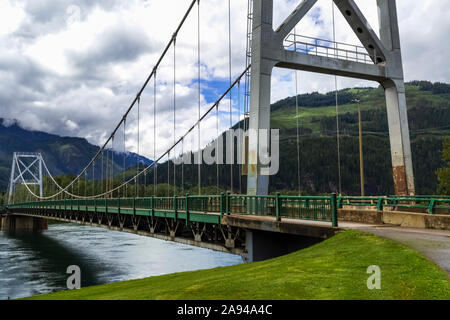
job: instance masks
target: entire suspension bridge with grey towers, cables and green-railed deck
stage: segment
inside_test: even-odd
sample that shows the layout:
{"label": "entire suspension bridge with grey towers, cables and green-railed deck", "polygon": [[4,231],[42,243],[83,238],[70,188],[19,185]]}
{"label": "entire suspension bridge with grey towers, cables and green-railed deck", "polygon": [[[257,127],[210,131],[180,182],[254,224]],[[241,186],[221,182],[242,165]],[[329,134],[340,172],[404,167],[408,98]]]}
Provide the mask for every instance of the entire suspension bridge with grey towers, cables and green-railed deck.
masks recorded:
{"label": "entire suspension bridge with grey towers, cables and green-railed deck", "polygon": [[[83,170],[67,183],[49,171],[42,155],[16,153],[12,163],[8,204],[3,208],[2,224],[10,229],[31,226],[45,228],[47,219],[89,224],[112,230],[178,241],[190,245],[242,254],[249,261],[262,260],[299,249],[328,238],[339,231],[344,220],[383,223],[385,212],[401,209],[423,211],[439,216],[450,210],[450,199],[416,197],[403,82],[402,56],[395,0],[377,0],[380,37],[373,31],[353,0],[331,0],[333,39],[317,39],[296,33],[297,24],[317,0],[299,2],[296,9],[277,28],[273,25],[273,0],[248,0],[246,66],[232,78],[231,2],[228,1],[228,88],[214,103],[202,106],[201,2],[193,0],[167,42],[141,89],[120,117],[109,137]],[[336,41],[334,15],[337,9],[350,24],[362,46]],[[197,19],[197,120],[186,130],[179,124],[177,95],[177,41],[188,19]],[[171,61],[173,71],[173,127],[158,120],[158,75],[163,61]],[[395,196],[342,197],[269,195],[269,177],[276,159],[276,134],[270,132],[271,74],[273,68],[288,68],[379,82],[385,89],[391,142]],[[296,77],[297,79],[297,77]],[[337,86],[337,85],[336,85]],[[297,83],[296,83],[297,90]],[[166,93],[167,94],[167,90]],[[137,154],[141,151],[141,106],[143,97],[152,97],[153,162],[127,168],[114,160],[115,150],[126,153],[131,112],[136,120]],[[297,95],[298,98],[298,95]],[[147,103],[147,102],[146,102]],[[228,104],[224,108],[224,104]],[[238,112],[234,111],[236,107]],[[234,105],[234,106],[233,106]],[[206,112],[202,113],[202,108]],[[338,109],[336,88],[336,109]],[[298,116],[298,99],[296,110]],[[226,110],[226,111],[224,111]],[[162,111],[162,110],[160,110]],[[227,147],[223,164],[220,137],[226,114],[228,129],[238,141]],[[338,112],[336,112],[337,124]],[[202,144],[202,125],[216,123],[215,135]],[[297,117],[298,119],[298,117]],[[170,132],[171,143],[157,152],[157,131]],[[297,156],[300,167],[297,120]],[[336,132],[341,193],[340,137]],[[275,138],[275,140],[274,140]],[[279,147],[279,146],[278,146]],[[215,172],[202,171],[203,149],[208,149]],[[147,150],[148,151],[148,150]],[[271,157],[267,155],[270,154]],[[185,161],[180,161],[184,159]],[[187,161],[186,161],[187,159]],[[241,159],[242,161],[239,161]],[[271,159],[271,162],[267,161]],[[165,164],[165,166],[163,166]],[[197,179],[197,194],[186,194],[187,167]],[[192,168],[195,167],[195,170]],[[167,172],[161,173],[162,168]],[[158,172],[159,171],[159,172]],[[131,175],[130,175],[130,172]],[[202,194],[202,178],[215,181],[215,194]],[[45,178],[44,178],[45,176]],[[228,185],[224,185],[224,176]],[[163,181],[163,179],[165,179]],[[295,179],[295,178],[294,178]],[[297,175],[300,189],[300,175]],[[48,185],[44,185],[48,184]],[[165,185],[164,191],[162,185]],[[211,183],[211,184],[214,184]],[[19,188],[17,186],[20,186]],[[149,186],[151,196],[148,195]],[[169,188],[171,187],[171,188]],[[159,189],[159,190],[158,190]],[[225,189],[225,190],[224,190]],[[246,190],[244,190],[246,189]],[[45,191],[46,190],[46,191]],[[223,190],[223,192],[222,192]],[[20,192],[25,196],[20,197]],[[44,192],[45,191],[45,192]],[[164,196],[158,196],[166,192]],[[369,209],[376,214],[369,214]],[[350,218],[348,218],[350,217]],[[387,218],[386,218],[387,219]],[[445,218],[442,218],[445,220]],[[441,220],[439,220],[441,221]],[[447,220],[446,220],[447,221]],[[433,224],[432,222],[431,224]],[[447,222],[445,222],[447,223]],[[345,226],[345,223],[342,224]],[[302,241],[298,239],[303,239]],[[297,240],[293,240],[297,239]]]}

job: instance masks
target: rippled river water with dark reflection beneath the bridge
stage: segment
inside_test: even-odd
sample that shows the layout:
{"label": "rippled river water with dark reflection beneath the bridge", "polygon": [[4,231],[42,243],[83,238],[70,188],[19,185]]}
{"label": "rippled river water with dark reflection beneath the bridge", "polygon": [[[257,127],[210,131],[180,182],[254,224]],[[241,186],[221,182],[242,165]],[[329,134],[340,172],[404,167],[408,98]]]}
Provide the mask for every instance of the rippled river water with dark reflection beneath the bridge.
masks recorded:
{"label": "rippled river water with dark reflection beneath the bridge", "polygon": [[86,287],[240,263],[236,255],[78,224],[0,231],[0,300],[64,290],[70,265],[80,267]]}

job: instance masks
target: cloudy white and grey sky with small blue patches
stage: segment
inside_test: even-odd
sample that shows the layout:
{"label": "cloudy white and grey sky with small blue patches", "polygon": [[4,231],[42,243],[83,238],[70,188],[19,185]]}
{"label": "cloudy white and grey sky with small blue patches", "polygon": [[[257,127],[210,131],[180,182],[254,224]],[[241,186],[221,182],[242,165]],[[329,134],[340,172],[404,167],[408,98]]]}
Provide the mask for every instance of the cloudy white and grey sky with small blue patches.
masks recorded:
{"label": "cloudy white and grey sky with small blue patches", "polygon": [[[2,0],[0,2],[0,118],[18,119],[27,129],[87,138],[102,144],[121,119],[186,11],[190,0]],[[276,0],[274,25],[299,0]],[[232,73],[245,66],[247,0],[232,0]],[[357,4],[378,30],[375,0]],[[448,59],[450,1],[397,0],[405,78],[450,82]],[[228,84],[228,4],[202,0],[202,110]],[[181,135],[196,121],[197,11],[177,40],[177,129]],[[337,40],[358,45],[336,10]],[[297,26],[298,34],[332,38],[331,0],[319,0]],[[157,77],[157,154],[173,141],[173,51],[169,50]],[[334,78],[298,73],[299,92],[327,92]],[[294,95],[294,72],[276,69],[272,100]],[[376,83],[338,79],[339,88]],[[140,105],[141,154],[153,157],[153,87]],[[233,117],[239,105],[233,98]],[[228,101],[221,105],[220,127],[226,128]],[[126,148],[136,151],[137,112],[127,121]],[[216,131],[216,120],[203,125],[202,140]],[[120,137],[114,146],[123,148]],[[195,137],[189,137],[189,141]],[[189,149],[186,142],[186,148]],[[194,145],[194,144],[192,144]]]}

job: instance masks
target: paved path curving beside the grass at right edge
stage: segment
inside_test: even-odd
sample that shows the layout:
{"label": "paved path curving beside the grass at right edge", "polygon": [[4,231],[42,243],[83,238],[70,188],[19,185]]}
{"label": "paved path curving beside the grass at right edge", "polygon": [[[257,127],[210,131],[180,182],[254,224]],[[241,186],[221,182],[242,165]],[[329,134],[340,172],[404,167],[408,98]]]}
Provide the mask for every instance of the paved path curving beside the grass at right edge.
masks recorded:
{"label": "paved path curving beside the grass at right edge", "polygon": [[450,230],[413,229],[345,222],[340,223],[339,227],[357,229],[403,243],[421,252],[438,264],[447,274],[450,274]]}

